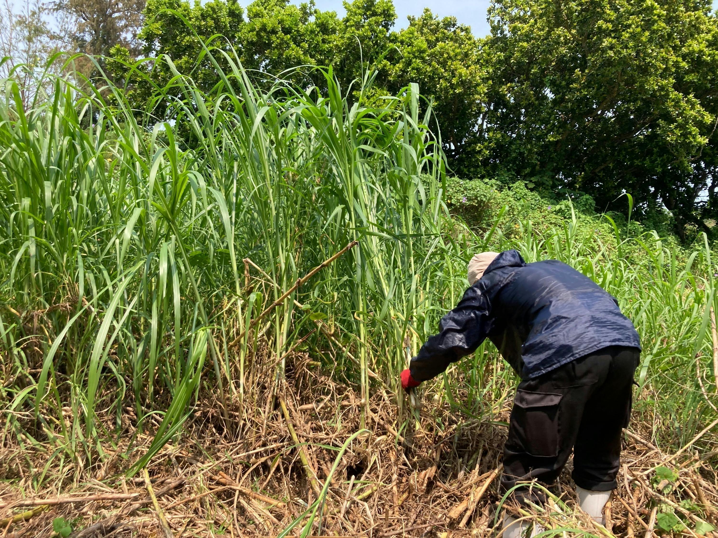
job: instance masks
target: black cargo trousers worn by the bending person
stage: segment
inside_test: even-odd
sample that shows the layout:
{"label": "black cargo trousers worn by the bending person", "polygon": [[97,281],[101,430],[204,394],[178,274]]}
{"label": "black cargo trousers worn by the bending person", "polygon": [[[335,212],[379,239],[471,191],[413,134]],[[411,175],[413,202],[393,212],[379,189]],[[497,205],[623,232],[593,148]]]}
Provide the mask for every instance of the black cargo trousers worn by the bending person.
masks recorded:
{"label": "black cargo trousers worn by the bending person", "polygon": [[[551,486],[572,450],[578,486],[615,489],[639,353],[607,347],[518,385],[503,453],[504,492],[534,479]],[[519,488],[514,496],[544,502],[536,489]]]}

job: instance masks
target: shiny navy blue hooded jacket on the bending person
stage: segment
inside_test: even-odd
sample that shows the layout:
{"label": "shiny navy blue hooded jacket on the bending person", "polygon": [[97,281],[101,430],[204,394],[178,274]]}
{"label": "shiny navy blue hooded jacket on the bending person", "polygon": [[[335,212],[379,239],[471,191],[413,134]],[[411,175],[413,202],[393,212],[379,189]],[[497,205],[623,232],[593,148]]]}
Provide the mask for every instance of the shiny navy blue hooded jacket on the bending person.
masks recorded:
{"label": "shiny navy blue hooded jacket on the bending person", "polygon": [[526,263],[500,253],[411,360],[425,381],[490,339],[521,379],[607,346],[640,349],[633,324],[593,280],[557,260]]}

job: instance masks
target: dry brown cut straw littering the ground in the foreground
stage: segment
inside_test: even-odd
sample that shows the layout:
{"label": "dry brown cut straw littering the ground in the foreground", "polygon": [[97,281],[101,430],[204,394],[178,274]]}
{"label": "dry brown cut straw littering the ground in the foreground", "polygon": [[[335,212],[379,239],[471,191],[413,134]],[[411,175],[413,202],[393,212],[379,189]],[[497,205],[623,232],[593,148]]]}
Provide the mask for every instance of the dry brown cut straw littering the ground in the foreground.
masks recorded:
{"label": "dry brown cut straw littering the ground in the foreground", "polygon": [[[482,422],[426,397],[420,420],[407,413],[406,428],[397,432],[402,422],[386,390],[369,402],[369,432],[350,443],[331,473],[337,450],[360,430],[363,402],[304,354],[292,355],[277,397],[260,382],[271,379],[271,371],[267,364],[255,379],[255,400],[230,406],[230,420],[218,402],[204,400],[185,433],[153,458],[147,476],[123,476],[129,462],[121,454],[137,433],[131,423],[117,448],[106,447],[117,457],[86,471],[49,453],[4,449],[0,536],[50,537],[53,521],[62,517],[76,538],[276,537],[322,495],[330,474],[310,536],[489,537],[500,531],[497,522],[506,509],[549,530],[607,538],[664,535],[656,517],[666,510],[692,523],[686,536],[696,536],[691,529],[701,519],[718,523],[718,476],[709,463],[715,455],[687,446],[671,456],[648,440],[651,425],[626,431],[620,487],[601,527],[572,501],[570,462],[559,481],[559,501],[549,501],[545,511],[500,505],[508,408]],[[131,459],[151,440],[151,432],[137,434]],[[679,478],[656,483],[661,465]],[[55,477],[55,486],[34,491],[33,480],[43,472]],[[299,536],[305,522],[288,535]]]}

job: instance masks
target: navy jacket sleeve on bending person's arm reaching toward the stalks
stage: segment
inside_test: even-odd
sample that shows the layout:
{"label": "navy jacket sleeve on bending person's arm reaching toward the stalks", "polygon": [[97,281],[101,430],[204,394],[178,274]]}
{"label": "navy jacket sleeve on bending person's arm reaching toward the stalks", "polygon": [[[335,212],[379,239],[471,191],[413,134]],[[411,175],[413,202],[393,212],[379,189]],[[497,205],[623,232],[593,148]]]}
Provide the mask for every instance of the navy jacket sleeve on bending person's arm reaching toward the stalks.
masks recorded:
{"label": "navy jacket sleeve on bending person's arm reaching toward the stalks", "polygon": [[476,351],[491,329],[490,304],[485,293],[472,286],[459,304],[442,318],[439,334],[431,336],[419,354],[411,359],[409,370],[415,382],[432,379],[449,364]]}

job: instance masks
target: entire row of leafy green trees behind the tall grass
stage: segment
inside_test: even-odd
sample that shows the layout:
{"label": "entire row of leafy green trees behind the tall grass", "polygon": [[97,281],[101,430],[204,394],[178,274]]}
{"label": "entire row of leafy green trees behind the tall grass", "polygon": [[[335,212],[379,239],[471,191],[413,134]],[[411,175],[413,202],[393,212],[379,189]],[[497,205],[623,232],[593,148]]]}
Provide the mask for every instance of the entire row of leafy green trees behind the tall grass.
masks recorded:
{"label": "entire row of leafy green trees behind the tall grass", "polygon": [[[669,209],[681,233],[718,218],[709,0],[494,0],[483,39],[428,9],[397,31],[391,0],[344,5],[340,17],[313,2],[255,0],[245,11],[236,0],[148,0],[144,70],[169,55],[210,90],[218,76],[206,58],[198,63],[199,38],[260,79],[299,77],[307,88],[322,90],[314,66],[332,65],[345,92],[376,69],[372,95],[417,82],[432,100],[454,174],[584,192],[597,209],[630,192],[644,216]],[[152,73],[160,84],[170,77]],[[140,106],[151,86],[128,91]]]}

